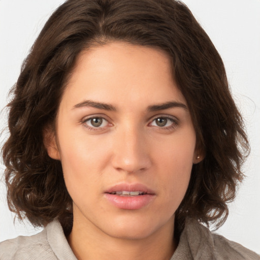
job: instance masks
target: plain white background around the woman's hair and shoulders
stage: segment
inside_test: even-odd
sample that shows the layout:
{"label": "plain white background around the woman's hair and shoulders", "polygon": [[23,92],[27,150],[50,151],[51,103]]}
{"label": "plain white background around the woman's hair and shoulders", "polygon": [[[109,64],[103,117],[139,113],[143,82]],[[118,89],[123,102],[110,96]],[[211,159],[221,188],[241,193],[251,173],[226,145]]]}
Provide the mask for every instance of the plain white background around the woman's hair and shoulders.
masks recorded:
{"label": "plain white background around the woman's hair and shoulders", "polygon": [[[0,0],[0,109],[20,66],[48,17],[63,0]],[[230,215],[217,233],[260,253],[260,0],[184,0],[222,56],[234,99],[246,121],[251,154],[246,180]],[[0,114],[0,129],[6,114]],[[1,137],[0,147],[5,135]],[[0,178],[4,166],[0,165]],[[0,182],[0,241],[35,231],[27,222],[13,224]]]}

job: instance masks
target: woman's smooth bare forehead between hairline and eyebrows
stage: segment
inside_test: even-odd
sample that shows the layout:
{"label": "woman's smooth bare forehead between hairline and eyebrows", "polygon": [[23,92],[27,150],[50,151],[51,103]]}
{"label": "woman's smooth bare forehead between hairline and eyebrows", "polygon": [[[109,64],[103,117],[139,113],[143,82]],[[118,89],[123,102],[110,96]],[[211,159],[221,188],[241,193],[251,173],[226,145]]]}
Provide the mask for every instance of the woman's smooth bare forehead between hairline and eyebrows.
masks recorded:
{"label": "woman's smooth bare forehead between hairline and eyebrows", "polygon": [[118,106],[169,100],[185,103],[173,79],[168,54],[125,42],[82,51],[63,98],[69,103],[87,99]]}

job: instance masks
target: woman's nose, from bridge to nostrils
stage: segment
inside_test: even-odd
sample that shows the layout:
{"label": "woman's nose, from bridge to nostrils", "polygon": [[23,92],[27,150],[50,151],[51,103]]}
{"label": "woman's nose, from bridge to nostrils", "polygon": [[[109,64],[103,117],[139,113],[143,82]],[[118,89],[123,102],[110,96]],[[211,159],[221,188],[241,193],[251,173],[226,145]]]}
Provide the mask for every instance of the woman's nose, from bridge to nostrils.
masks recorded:
{"label": "woman's nose, from bridge to nostrils", "polygon": [[120,172],[136,173],[150,168],[151,158],[147,140],[133,127],[122,129],[117,133],[114,147],[112,165]]}

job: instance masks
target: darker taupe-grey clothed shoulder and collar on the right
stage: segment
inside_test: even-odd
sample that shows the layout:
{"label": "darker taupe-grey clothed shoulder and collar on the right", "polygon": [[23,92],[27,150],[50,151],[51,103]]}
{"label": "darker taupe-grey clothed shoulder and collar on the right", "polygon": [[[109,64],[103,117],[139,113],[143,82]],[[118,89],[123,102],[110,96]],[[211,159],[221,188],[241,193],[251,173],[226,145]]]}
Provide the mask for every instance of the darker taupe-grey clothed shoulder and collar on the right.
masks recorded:
{"label": "darker taupe-grey clothed shoulder and collar on the right", "polygon": [[188,219],[180,243],[189,249],[192,259],[260,260],[260,255],[244,246],[211,232],[194,219]]}

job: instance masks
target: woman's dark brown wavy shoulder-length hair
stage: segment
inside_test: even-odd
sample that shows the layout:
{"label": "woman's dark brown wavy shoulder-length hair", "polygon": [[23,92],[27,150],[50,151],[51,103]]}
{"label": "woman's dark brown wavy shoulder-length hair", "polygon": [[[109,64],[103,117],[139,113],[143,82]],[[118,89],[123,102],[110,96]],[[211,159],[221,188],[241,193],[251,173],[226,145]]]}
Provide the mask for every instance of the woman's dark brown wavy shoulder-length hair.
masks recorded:
{"label": "woman's dark brown wavy shoulder-length hair", "polygon": [[9,109],[10,136],[2,154],[7,199],[18,218],[35,226],[58,219],[70,231],[72,199],[59,160],[51,159],[43,129],[53,127],[62,92],[82,50],[112,41],[159,48],[172,59],[205,154],[193,165],[176,212],[220,226],[228,216],[249,151],[221,57],[189,9],[174,0],[68,0],[49,18],[24,60]]}

